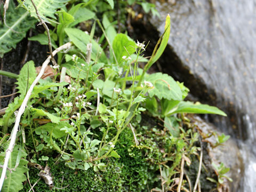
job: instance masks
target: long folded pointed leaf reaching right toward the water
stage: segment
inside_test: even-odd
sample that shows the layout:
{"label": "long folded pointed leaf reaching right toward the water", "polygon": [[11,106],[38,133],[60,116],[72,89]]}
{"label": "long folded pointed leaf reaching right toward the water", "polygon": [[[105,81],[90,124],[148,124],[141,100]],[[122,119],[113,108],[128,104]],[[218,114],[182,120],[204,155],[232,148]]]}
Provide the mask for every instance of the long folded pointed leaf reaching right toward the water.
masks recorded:
{"label": "long folded pointed leaf reaching right toward the water", "polygon": [[194,114],[217,114],[227,116],[222,110],[217,107],[201,104],[199,102],[193,103],[190,101],[181,101],[177,108],[167,115],[175,113],[194,113]]}

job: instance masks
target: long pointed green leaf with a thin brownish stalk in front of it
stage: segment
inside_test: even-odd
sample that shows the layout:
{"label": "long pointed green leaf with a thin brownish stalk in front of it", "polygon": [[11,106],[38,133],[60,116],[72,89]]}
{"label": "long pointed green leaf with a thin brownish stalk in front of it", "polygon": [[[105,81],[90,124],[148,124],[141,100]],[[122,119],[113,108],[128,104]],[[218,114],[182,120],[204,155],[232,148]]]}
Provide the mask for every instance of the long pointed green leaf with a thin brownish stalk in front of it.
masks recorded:
{"label": "long pointed green leaf with a thin brownish stalk in front of it", "polygon": [[80,29],[74,29],[74,28],[66,28],[65,29],[68,37],[70,40],[78,47],[79,50],[81,50],[83,53],[86,54],[86,46],[87,44],[92,43],[92,53],[91,58],[93,60],[99,60],[100,62],[106,62],[107,57],[100,47],[100,45],[95,42],[93,39],[90,39],[90,35],[86,34],[84,31]]}

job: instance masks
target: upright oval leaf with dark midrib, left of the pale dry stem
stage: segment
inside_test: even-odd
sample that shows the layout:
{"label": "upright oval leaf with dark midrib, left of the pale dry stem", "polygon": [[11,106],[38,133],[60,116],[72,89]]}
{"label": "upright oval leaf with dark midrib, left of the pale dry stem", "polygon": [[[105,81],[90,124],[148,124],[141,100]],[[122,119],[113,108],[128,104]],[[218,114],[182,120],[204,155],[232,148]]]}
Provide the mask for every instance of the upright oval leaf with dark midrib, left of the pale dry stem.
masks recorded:
{"label": "upright oval leaf with dark midrib, left of the pale dry stem", "polygon": [[25,65],[21,68],[20,74],[18,77],[18,85],[17,89],[21,95],[25,95],[26,91],[29,89],[30,85],[34,82],[36,78],[36,68],[34,65],[34,61],[28,61]]}

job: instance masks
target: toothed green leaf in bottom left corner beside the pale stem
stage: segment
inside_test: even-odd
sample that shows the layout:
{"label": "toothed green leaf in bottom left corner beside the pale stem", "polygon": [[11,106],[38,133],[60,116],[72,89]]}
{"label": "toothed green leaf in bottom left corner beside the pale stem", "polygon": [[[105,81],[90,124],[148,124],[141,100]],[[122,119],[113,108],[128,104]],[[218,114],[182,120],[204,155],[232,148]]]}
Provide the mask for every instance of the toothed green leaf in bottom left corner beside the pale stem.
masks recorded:
{"label": "toothed green leaf in bottom left corner beside the pale stem", "polygon": [[[28,171],[26,165],[28,164],[28,161],[24,158],[26,158],[27,154],[25,151],[20,150],[19,152],[19,146],[15,145],[13,148],[13,151],[11,153],[9,163],[8,163],[8,168],[11,169],[12,171],[10,172],[9,170],[6,171],[6,179],[4,180],[3,192],[16,192],[21,189],[23,189],[23,181],[26,181],[26,173]],[[5,152],[2,152],[0,154],[1,158],[1,164],[3,165],[5,157]],[[17,166],[17,162],[19,162]],[[16,165],[16,167],[15,167]],[[15,169],[14,169],[15,168]],[[1,171],[2,173],[2,168]]]}

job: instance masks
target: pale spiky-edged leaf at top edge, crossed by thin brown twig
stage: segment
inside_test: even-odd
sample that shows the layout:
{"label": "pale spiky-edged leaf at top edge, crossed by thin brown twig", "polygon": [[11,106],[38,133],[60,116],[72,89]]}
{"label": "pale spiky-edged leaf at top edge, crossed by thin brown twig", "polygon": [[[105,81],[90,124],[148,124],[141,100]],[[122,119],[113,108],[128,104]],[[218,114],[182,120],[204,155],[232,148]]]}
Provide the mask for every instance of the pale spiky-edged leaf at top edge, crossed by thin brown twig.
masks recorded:
{"label": "pale spiky-edged leaf at top edge, crossed by thin brown twig", "polygon": [[[55,12],[57,9],[65,6],[69,0],[34,0],[38,13],[44,22],[50,22],[49,18],[56,19]],[[35,7],[30,0],[25,0],[20,3],[27,11],[29,11],[31,17],[37,18]]]}

